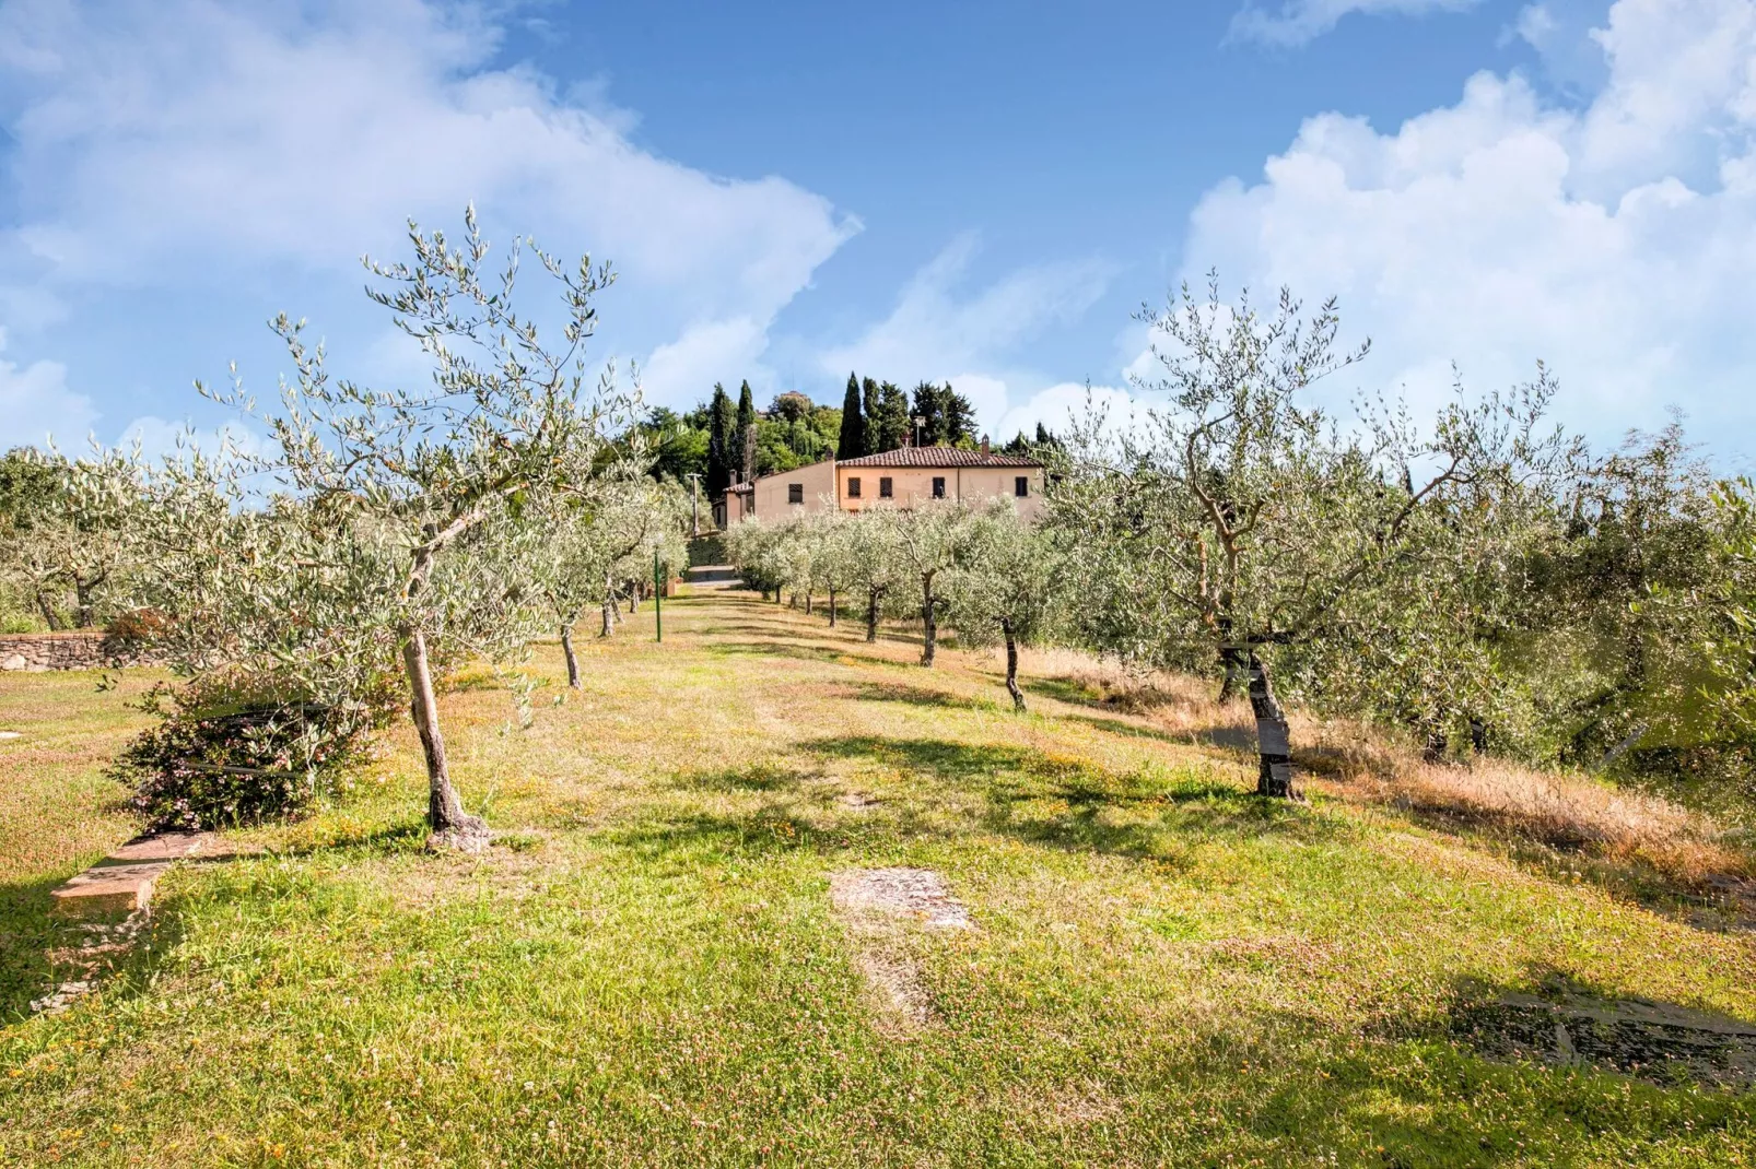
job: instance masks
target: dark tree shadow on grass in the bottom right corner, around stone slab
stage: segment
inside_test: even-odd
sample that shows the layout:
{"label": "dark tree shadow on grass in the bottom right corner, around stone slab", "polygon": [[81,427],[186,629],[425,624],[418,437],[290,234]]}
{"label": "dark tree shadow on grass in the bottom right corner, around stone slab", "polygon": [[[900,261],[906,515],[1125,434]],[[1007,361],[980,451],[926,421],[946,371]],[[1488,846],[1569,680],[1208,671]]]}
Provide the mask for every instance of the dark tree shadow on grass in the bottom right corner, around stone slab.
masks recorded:
{"label": "dark tree shadow on grass in the bottom right corner, around stone slab", "polygon": [[[1724,1150],[1737,1139],[1712,1144],[1714,1134],[1749,1125],[1747,1092],[1700,1087],[1749,1083],[1728,1069],[1719,1036],[1698,1044],[1688,1034],[1702,1022],[1675,1004],[1544,1000],[1542,990],[1459,981],[1450,1009],[1364,1034],[1338,1032],[1319,1015],[1254,1013],[1212,1034],[1196,1048],[1199,1062],[1180,1071],[1203,1079],[1236,1074],[1247,1060],[1249,1097],[1220,1108],[1273,1150],[1273,1164],[1312,1153],[1322,1162],[1329,1150],[1335,1164],[1387,1169],[1577,1164],[1607,1134],[1617,1164],[1649,1164],[1673,1153],[1682,1132]],[[1756,1034],[1723,1016],[1709,1025]],[[1709,1053],[1716,1046],[1721,1053]],[[1500,1101],[1519,1104],[1484,1106]]]}

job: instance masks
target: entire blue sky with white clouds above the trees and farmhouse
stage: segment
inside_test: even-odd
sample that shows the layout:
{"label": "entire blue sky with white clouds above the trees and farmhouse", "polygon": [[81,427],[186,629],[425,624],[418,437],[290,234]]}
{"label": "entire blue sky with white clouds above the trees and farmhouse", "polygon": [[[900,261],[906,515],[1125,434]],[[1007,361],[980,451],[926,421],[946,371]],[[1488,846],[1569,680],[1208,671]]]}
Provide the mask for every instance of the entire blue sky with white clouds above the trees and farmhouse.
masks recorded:
{"label": "entire blue sky with white clouds above the trees and farmhouse", "polygon": [[1062,427],[1155,400],[1134,314],[1217,270],[1338,297],[1338,411],[1542,360],[1600,446],[1756,455],[1756,0],[0,0],[0,446],[248,441],[191,381],[272,395],[283,311],[416,383],[360,258],[469,202],[615,265],[651,404]]}

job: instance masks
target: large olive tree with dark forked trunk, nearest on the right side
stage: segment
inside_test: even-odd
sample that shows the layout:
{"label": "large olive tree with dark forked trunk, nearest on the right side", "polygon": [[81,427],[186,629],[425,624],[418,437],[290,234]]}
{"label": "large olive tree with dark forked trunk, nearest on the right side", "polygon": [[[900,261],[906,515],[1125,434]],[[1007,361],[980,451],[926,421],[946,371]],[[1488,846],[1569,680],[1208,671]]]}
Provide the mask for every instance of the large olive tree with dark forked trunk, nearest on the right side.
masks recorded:
{"label": "large olive tree with dark forked trunk, nearest on the right side", "polygon": [[1263,795],[1294,797],[1291,735],[1270,653],[1343,620],[1371,586],[1422,572],[1417,539],[1449,493],[1507,483],[1563,451],[1538,434],[1552,395],[1536,383],[1470,404],[1461,395],[1422,435],[1403,409],[1366,411],[1340,430],[1313,404],[1321,379],[1366,355],[1336,348],[1335,300],[1310,316],[1282,290],[1259,314],[1226,305],[1217,279],[1143,311],[1166,405],[1145,421],[1080,439],[1059,525],[1092,532],[1101,572],[1129,572],[1143,614],[1113,648],[1166,660],[1220,660],[1247,676]]}

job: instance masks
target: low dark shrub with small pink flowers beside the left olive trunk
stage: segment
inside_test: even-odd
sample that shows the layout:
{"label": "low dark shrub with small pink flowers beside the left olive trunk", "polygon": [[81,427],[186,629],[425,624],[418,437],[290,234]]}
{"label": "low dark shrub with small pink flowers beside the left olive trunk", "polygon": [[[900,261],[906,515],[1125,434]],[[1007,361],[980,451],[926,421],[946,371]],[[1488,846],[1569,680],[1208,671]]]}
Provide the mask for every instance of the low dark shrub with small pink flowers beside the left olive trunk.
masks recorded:
{"label": "low dark shrub with small pink flowers beside the left olive trunk", "polygon": [[346,786],[371,751],[388,704],[369,713],[288,699],[262,683],[198,679],[155,688],[160,723],[137,735],[111,774],[133,786],[148,830],[218,828],[297,818]]}

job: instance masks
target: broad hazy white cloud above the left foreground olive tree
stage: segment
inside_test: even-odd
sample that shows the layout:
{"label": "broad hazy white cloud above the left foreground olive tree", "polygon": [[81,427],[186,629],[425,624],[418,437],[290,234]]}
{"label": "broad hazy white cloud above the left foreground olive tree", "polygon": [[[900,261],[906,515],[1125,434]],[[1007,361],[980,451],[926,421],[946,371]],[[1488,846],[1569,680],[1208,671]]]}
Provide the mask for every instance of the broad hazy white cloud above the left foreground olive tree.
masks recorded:
{"label": "broad hazy white cloud above the left foreground olive tree", "polygon": [[558,93],[527,67],[493,67],[500,32],[483,12],[0,4],[18,207],[0,286],[198,288],[283,265],[346,274],[358,295],[362,253],[399,253],[406,218],[453,226],[474,200],[490,237],[516,228],[616,263],[609,344],[669,353],[753,330],[738,353],[760,351],[859,221],[778,177],[639,149],[632,118],[590,86]]}

